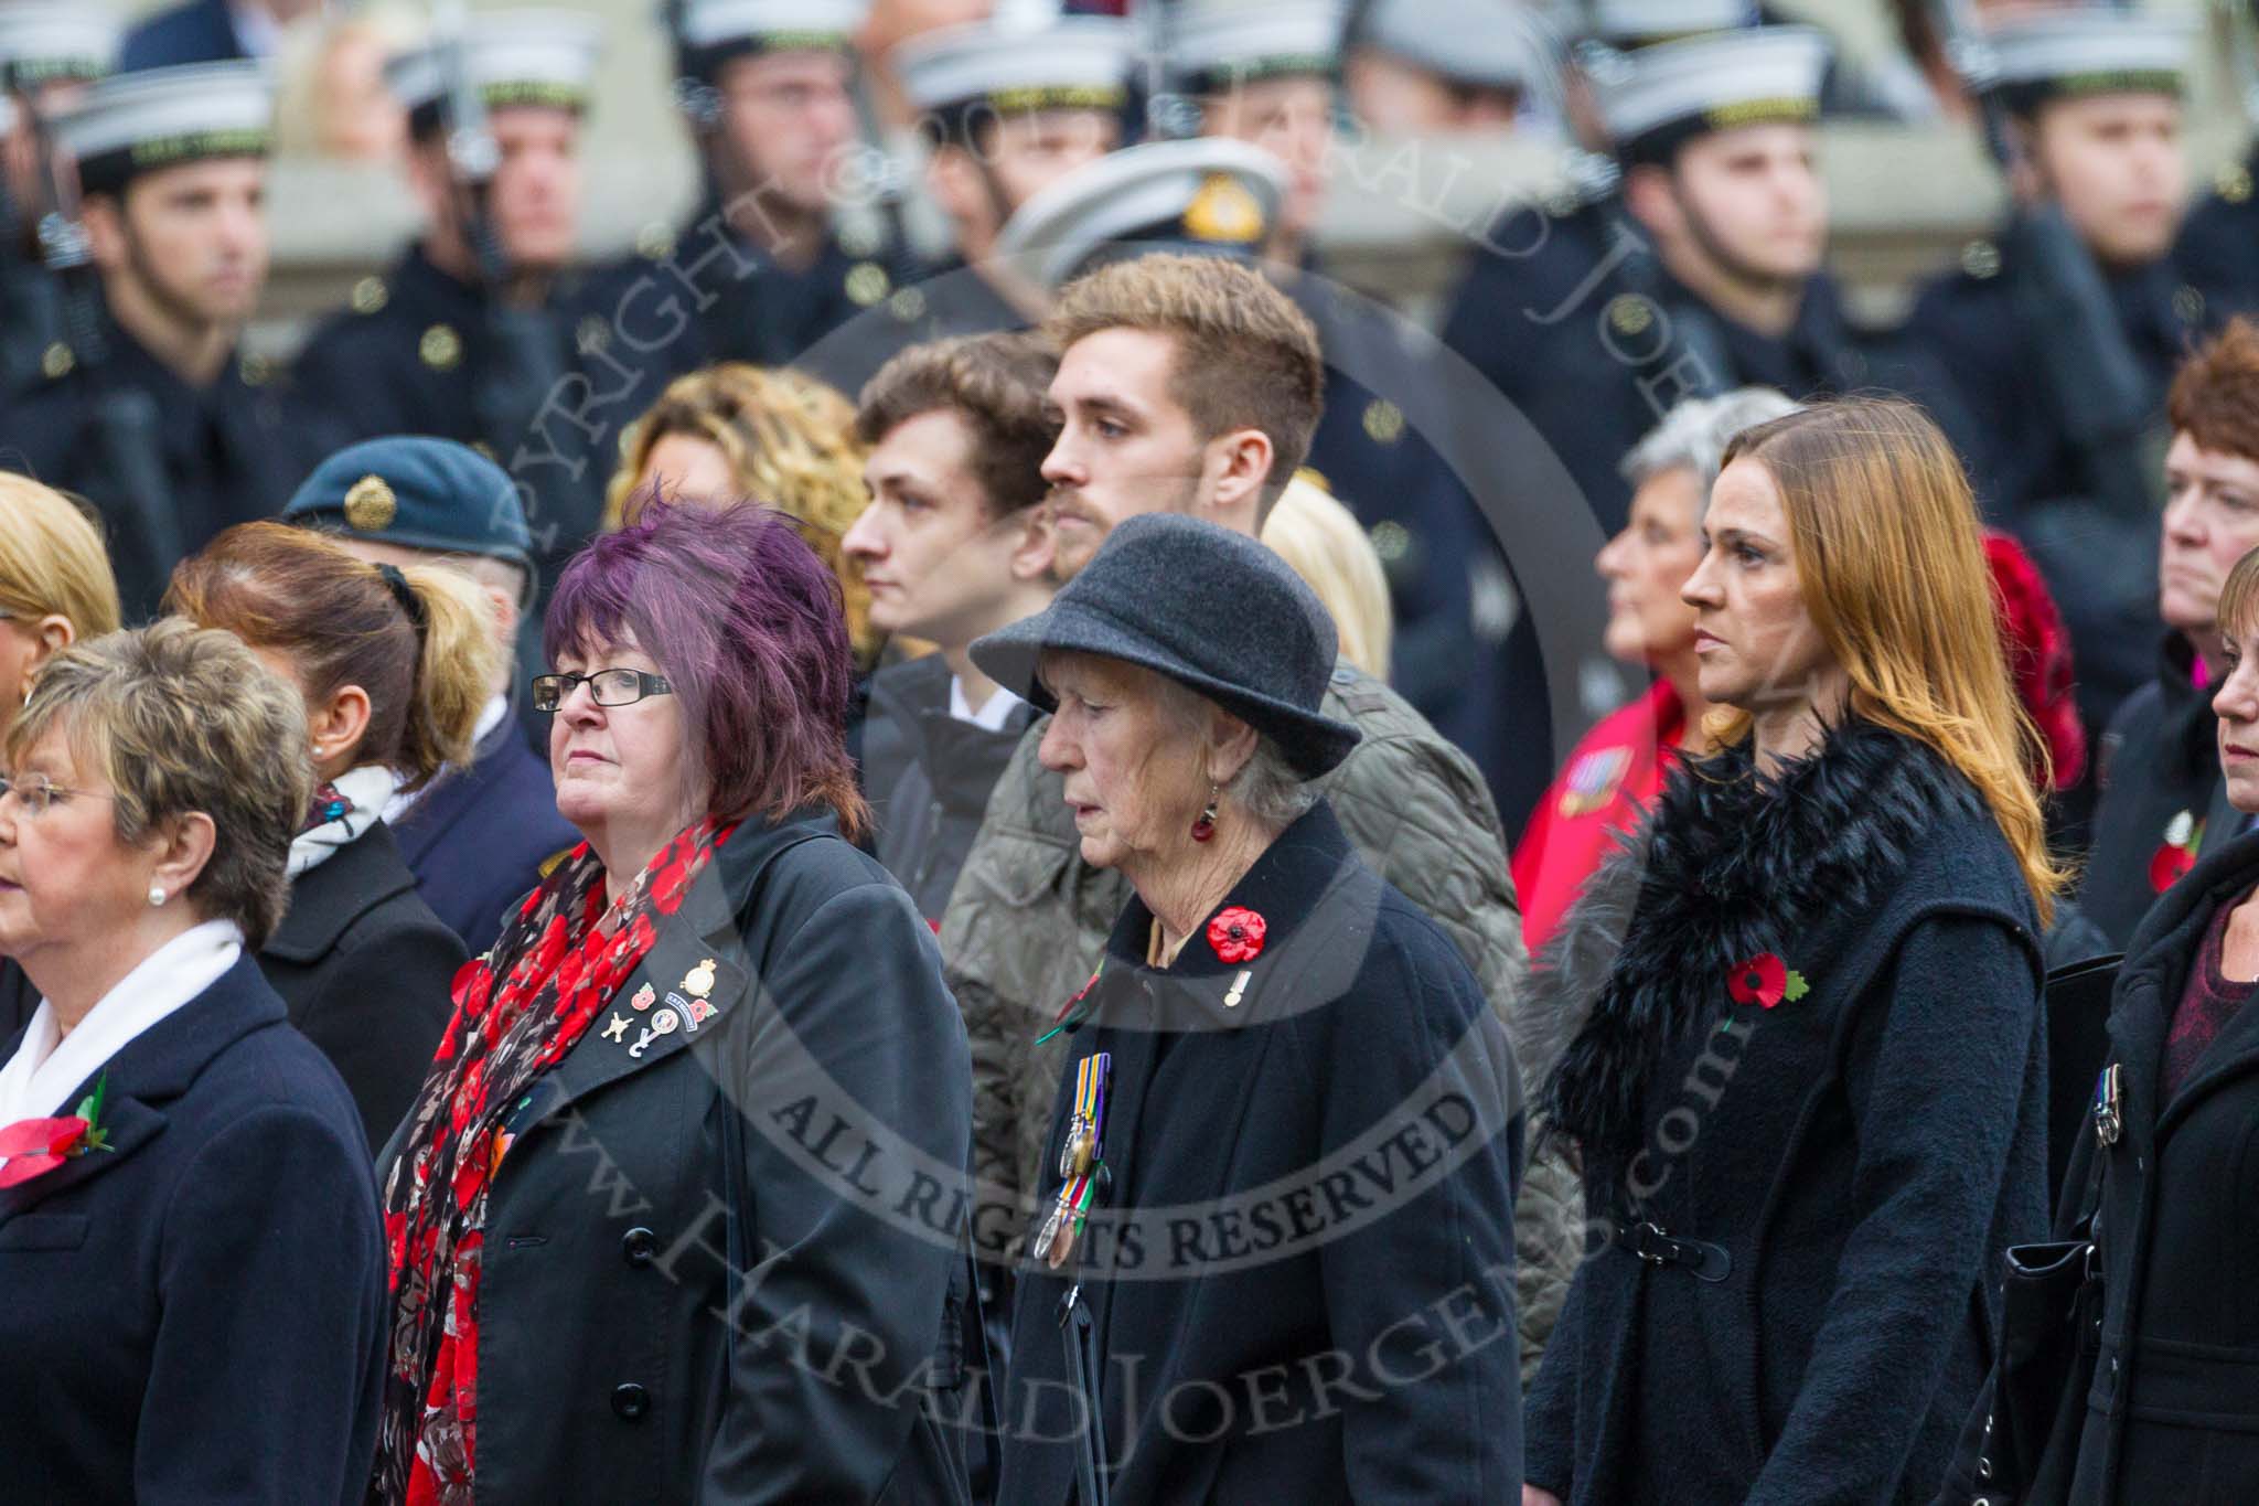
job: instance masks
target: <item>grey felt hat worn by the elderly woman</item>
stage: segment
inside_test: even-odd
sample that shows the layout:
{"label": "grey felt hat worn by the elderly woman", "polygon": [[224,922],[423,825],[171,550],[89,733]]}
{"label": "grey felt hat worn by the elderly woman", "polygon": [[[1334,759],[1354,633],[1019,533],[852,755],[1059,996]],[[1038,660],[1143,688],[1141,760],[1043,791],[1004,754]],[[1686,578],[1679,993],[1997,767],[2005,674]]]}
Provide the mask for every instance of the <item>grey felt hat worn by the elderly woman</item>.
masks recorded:
{"label": "grey felt hat worn by the elderly woman", "polygon": [[1030,619],[974,643],[983,675],[1055,709],[1035,671],[1046,648],[1141,664],[1272,738],[1315,779],[1358,729],[1319,716],[1333,677],[1333,619],[1285,560],[1256,540],[1175,513],[1125,519]]}

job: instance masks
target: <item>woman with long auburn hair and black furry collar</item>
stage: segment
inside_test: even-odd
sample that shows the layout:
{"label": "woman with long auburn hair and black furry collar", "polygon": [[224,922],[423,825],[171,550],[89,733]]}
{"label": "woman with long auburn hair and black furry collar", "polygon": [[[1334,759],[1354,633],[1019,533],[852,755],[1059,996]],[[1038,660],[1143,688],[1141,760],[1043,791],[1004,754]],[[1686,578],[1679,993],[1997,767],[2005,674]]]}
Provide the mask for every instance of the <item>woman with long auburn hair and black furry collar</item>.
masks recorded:
{"label": "woman with long auburn hair and black furry collar", "polygon": [[1523,1501],[1927,1501],[2047,1217],[2031,732],[1920,409],[1744,431],[1703,537],[1717,752],[1534,973],[1593,1253]]}

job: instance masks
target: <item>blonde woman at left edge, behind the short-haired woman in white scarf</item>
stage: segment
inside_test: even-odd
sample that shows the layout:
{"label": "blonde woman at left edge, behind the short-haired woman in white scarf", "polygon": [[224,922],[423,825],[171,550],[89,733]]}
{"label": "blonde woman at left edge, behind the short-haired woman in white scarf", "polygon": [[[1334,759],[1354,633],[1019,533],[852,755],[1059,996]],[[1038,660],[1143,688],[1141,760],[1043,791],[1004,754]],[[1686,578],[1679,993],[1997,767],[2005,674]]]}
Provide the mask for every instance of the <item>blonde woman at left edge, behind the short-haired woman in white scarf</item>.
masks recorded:
{"label": "blonde woman at left edge, behind the short-haired woman in white scarf", "polygon": [[[117,632],[117,580],[102,531],[52,485],[0,472],[0,738],[41,666],[104,632]],[[0,1041],[36,1005],[23,969],[0,960]]]}

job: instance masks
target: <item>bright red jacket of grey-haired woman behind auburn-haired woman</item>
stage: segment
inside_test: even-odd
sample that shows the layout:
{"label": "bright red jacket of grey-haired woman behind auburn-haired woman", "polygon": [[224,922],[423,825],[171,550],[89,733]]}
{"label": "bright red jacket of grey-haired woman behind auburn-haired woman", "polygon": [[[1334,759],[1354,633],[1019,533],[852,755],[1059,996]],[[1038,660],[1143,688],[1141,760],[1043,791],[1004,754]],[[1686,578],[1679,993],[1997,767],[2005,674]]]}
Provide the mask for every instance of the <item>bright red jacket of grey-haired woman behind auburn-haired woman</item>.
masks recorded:
{"label": "bright red jacket of grey-haired woman behind auburn-haired woman", "polygon": [[1685,707],[1667,680],[1584,734],[1561,774],[1545,788],[1523,840],[1514,847],[1514,892],[1523,905],[1523,944],[1536,955],[1584,881],[1615,851],[1663,790],[1669,759],[1685,741]]}

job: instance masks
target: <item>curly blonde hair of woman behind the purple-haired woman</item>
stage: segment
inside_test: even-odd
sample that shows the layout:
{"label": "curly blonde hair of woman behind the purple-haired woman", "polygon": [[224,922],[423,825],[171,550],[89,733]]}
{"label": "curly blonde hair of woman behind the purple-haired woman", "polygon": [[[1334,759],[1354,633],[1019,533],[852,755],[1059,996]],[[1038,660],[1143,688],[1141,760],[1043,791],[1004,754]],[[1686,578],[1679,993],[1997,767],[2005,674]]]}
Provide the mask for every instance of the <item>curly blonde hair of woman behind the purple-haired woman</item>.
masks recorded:
{"label": "curly blonde hair of woman behind the purple-haired woman", "polygon": [[867,447],[854,404],[791,368],[723,361],[675,377],[619,445],[603,497],[603,531],[635,524],[651,497],[723,506],[759,501],[800,524],[802,537],[840,585],[856,664],[872,664],[881,634],[870,625],[863,571],[840,540],[863,515]]}

